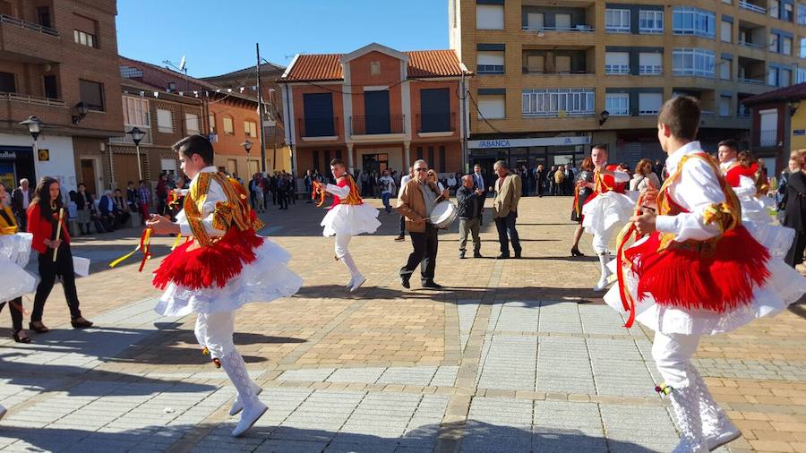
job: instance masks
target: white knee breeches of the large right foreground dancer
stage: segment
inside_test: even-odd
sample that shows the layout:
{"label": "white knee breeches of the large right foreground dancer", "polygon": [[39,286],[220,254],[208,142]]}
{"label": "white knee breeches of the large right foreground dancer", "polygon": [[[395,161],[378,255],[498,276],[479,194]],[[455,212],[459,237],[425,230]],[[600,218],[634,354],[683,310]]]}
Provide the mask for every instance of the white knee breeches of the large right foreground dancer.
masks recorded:
{"label": "white knee breeches of the large right foreground dancer", "polygon": [[664,334],[655,332],[652,358],[666,385],[688,387],[696,381],[690,373],[691,357],[697,352],[699,335]]}

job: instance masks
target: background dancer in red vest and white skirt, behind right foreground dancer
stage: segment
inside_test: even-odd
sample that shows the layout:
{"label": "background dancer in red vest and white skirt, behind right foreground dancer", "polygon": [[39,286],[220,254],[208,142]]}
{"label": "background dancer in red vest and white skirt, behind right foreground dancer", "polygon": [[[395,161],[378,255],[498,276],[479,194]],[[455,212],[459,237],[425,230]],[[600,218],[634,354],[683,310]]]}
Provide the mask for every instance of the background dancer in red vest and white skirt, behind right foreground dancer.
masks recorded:
{"label": "background dancer in red vest and white skirt, behind right foreground dancer", "polygon": [[617,170],[614,165],[607,165],[607,150],[604,146],[593,147],[590,158],[596,167],[594,182],[579,181],[580,186],[594,191],[582,206],[582,226],[586,233],[594,235],[593,248],[599,256],[602,271],[594,290],[603,291],[608,285],[607,278],[612,275],[607,268],[607,263],[612,259],[607,243],[613,230],[627,223],[635,203],[624,194],[624,186],[630,181],[630,175]]}

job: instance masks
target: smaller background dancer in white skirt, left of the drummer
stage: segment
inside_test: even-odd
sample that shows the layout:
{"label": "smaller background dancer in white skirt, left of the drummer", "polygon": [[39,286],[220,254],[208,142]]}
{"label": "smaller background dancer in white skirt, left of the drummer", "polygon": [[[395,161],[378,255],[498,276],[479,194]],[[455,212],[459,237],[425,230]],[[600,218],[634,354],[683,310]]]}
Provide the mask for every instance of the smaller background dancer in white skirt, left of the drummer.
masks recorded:
{"label": "smaller background dancer in white skirt, left of the drummer", "polygon": [[[378,226],[381,226],[381,222],[378,221],[379,211],[361,200],[356,181],[347,173],[343,160],[340,158],[331,160],[330,171],[336,176],[336,184],[314,183],[313,196],[318,194],[323,201],[326,193],[333,195],[333,205],[322,218],[324,226],[322,235],[336,236],[336,260],[343,262],[349,269],[350,281],[347,287],[353,292],[364,285],[366,278],[358,270],[353,255],[347,250],[347,245],[354,235],[372,234]],[[322,202],[319,206],[321,205]]]}

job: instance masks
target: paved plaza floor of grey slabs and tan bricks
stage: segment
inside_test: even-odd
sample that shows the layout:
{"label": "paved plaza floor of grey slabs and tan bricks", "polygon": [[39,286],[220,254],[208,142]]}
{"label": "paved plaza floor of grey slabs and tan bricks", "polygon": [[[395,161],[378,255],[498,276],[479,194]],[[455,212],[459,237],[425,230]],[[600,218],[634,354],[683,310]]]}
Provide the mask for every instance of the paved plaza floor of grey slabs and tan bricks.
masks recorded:
{"label": "paved plaza floor of grey slabs and tan bricks", "polygon": [[[380,207],[380,201],[371,200]],[[457,225],[440,235],[436,281],[399,285],[411,244],[395,243],[398,215],[350,244],[368,277],[350,294],[347,270],[324,238],[323,209],[297,201],[262,214],[262,234],[292,253],[304,287],[251,304],[236,344],[269,412],[244,438],[229,432],[235,390],[201,355],[194,316],[162,318],[154,259],[116,269],[138,229],[79,238],[93,261],[78,280],[96,327],[70,328],[56,287],[30,345],[9,337],[0,313],[0,422],[4,451],[670,451],[678,440],[657,397],[652,332],[624,329],[591,291],[595,257],[570,258],[570,198],[521,201],[522,260],[497,261],[483,226],[484,259],[459,260]],[[491,209],[488,209],[489,213]],[[488,214],[489,215],[489,214]],[[590,237],[582,252],[592,254]],[[30,297],[25,301],[30,309]],[[806,305],[732,334],[704,338],[705,376],[743,437],[721,451],[806,451]]]}

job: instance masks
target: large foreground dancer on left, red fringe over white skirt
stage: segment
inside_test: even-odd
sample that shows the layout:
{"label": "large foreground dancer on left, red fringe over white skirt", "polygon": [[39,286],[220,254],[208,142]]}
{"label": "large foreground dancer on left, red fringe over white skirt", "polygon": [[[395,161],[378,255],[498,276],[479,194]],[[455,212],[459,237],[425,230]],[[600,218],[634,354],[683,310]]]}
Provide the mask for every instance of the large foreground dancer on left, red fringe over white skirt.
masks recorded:
{"label": "large foreground dancer on left, red fringe over white skirt", "polygon": [[198,313],[196,338],[237,389],[230,415],[243,411],[232,432],[240,436],[267,407],[233,343],[236,310],[245,303],[293,295],[302,279],[286,267],[290,257],[285,250],[255,233],[262,223],[249,207],[244,187],[212,166],[210,141],[192,135],[173,148],[184,174],[192,178],[184,209],[176,223],[154,215],[147,225],[155,234],[193,239],[154,272],[154,285],[166,289],[155,310],[166,316]]}

